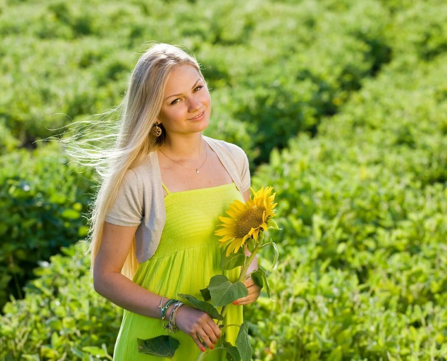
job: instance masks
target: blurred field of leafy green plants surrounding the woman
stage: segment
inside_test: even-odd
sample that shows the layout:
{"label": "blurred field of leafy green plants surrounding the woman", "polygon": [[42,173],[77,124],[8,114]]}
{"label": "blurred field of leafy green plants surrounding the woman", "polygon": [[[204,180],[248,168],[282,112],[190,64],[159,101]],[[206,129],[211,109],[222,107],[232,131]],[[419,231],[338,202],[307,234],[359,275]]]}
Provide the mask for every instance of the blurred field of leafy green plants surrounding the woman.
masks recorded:
{"label": "blurred field of leafy green plants surrounding the woman", "polygon": [[253,359],[446,359],[443,1],[0,9],[1,360],[113,353],[122,310],[76,243],[95,176],[39,140],[116,106],[148,40],[194,51],[212,88],[204,134],[245,149],[254,189],[277,193],[277,302],[263,290],[244,306]]}

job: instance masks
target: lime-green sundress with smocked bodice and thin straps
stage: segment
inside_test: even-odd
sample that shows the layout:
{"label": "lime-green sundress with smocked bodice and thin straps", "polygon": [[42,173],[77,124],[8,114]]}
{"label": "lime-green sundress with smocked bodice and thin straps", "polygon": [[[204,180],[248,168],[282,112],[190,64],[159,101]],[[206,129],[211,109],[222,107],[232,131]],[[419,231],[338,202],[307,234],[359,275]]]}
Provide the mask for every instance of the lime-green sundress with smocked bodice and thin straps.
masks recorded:
{"label": "lime-green sundress with smocked bodice and thin straps", "polygon": [[[219,268],[222,248],[219,249],[219,236],[214,232],[218,229],[217,225],[222,223],[218,217],[226,216],[225,211],[230,203],[236,199],[244,202],[244,198],[234,182],[178,192],[170,192],[162,185],[167,195],[164,197],[166,221],[160,244],[150,259],[138,265],[133,281],[160,296],[176,298],[192,306],[177,293],[190,294],[203,300],[200,289],[207,287],[212,276],[223,274],[231,282],[239,277],[241,266],[228,271]],[[164,298],[163,304],[169,298]],[[211,303],[211,300],[208,302]],[[227,307],[224,324],[240,325],[243,322],[242,305],[230,304]],[[222,307],[217,307],[217,310],[221,312]],[[217,323],[217,320],[214,321]],[[226,340],[235,345],[239,327],[230,326],[225,330]],[[114,348],[114,361],[167,360],[166,357],[138,352],[137,338],[144,340],[160,335],[167,335],[161,319],[124,310]],[[194,340],[181,330],[169,333],[169,336],[180,341],[174,353],[175,361],[194,361],[202,352]],[[220,337],[214,347],[221,346],[222,340]],[[225,359],[226,351],[215,350],[206,361]]]}

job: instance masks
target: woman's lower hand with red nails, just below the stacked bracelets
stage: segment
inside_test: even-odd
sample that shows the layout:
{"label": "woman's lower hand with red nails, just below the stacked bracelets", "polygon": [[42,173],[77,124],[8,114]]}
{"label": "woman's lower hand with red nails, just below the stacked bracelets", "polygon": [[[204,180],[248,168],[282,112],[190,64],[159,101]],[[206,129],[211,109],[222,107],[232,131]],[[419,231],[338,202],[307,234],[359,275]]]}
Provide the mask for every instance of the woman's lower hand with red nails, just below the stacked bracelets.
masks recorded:
{"label": "woman's lower hand with red nails, just below the stacked bracelets", "polygon": [[201,351],[205,351],[202,342],[209,348],[213,348],[213,344],[217,343],[220,337],[220,328],[211,318],[211,316],[202,310],[188,305],[181,305],[175,314],[175,325],[187,335],[190,335],[197,347]]}

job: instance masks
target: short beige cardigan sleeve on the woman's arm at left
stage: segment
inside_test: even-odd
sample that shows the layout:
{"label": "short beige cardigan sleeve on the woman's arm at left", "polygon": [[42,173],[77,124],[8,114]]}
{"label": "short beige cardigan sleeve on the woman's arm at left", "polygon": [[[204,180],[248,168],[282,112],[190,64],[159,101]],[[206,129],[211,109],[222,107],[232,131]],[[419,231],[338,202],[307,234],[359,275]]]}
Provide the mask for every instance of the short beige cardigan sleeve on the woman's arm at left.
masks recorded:
{"label": "short beige cardigan sleeve on the woman's arm at left", "polygon": [[122,178],[114,205],[105,216],[105,221],[114,225],[139,225],[143,218],[141,194],[135,172],[128,169]]}

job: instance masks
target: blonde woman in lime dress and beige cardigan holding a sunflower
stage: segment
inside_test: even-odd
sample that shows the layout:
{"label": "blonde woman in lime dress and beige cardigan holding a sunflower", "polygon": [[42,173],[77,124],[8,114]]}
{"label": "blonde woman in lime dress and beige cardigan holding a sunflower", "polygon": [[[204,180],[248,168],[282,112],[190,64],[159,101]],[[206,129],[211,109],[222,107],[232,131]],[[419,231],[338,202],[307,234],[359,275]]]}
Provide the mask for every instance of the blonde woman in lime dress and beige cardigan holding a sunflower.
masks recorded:
{"label": "blonde woman in lime dress and beige cardigan holding a sunflower", "polygon": [[[239,146],[202,135],[210,93],[194,56],[179,47],[157,43],[141,55],[123,105],[113,149],[97,153],[96,165],[106,166],[98,171],[103,182],[88,238],[95,290],[124,309],[114,360],[160,360],[139,353],[137,338],[167,334],[161,307],[169,299],[184,303],[175,314],[181,332],[170,335],[180,341],[173,360],[195,360],[222,343],[221,331],[177,293],[202,299],[199,290],[212,276],[237,280],[240,267],[219,268],[214,231],[233,200],[249,199],[248,159]],[[254,269],[257,258],[247,273]],[[251,278],[245,285],[248,296],[228,306],[225,324],[240,325],[242,305],[259,297]],[[174,307],[166,310],[166,323]],[[235,344],[238,330],[226,328],[225,339]],[[207,361],[225,356],[216,350]]]}

